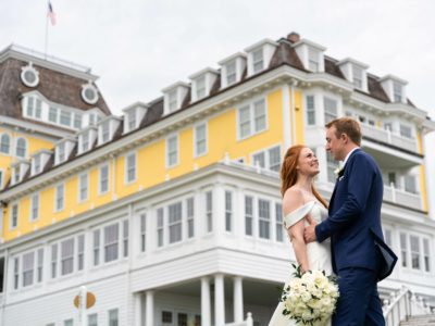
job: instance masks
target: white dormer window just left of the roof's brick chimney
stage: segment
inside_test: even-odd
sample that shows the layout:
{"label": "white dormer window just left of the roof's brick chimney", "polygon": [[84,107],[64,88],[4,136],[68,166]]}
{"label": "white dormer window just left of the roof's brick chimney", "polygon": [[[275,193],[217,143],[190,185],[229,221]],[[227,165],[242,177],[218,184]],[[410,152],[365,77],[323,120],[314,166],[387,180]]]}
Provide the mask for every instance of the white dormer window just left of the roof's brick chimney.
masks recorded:
{"label": "white dormer window just left of the roof's brick chimney", "polygon": [[245,51],[248,53],[248,76],[258,74],[269,67],[278,43],[271,39],[263,39]]}

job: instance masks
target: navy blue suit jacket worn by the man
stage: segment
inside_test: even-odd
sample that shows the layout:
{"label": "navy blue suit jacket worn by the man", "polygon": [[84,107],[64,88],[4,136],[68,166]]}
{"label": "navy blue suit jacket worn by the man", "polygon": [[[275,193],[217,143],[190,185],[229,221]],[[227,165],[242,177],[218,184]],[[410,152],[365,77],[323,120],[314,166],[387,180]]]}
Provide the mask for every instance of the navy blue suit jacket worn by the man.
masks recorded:
{"label": "navy blue suit jacket worn by the man", "polygon": [[383,180],[372,156],[355,150],[335,184],[330,216],[315,227],[319,242],[331,237],[333,269],[346,267],[380,269],[380,251],[372,233],[384,241],[381,227]]}

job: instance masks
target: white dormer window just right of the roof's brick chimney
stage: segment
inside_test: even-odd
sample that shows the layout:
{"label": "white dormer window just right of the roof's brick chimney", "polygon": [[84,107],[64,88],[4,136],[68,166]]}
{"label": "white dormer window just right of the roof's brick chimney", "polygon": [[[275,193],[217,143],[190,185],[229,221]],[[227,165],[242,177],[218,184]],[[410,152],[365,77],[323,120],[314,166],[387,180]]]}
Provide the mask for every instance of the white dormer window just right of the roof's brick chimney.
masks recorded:
{"label": "white dormer window just right of the roof's brick chimney", "polygon": [[312,73],[323,73],[325,71],[323,55],[326,50],[325,47],[301,39],[294,45],[294,48],[306,70]]}

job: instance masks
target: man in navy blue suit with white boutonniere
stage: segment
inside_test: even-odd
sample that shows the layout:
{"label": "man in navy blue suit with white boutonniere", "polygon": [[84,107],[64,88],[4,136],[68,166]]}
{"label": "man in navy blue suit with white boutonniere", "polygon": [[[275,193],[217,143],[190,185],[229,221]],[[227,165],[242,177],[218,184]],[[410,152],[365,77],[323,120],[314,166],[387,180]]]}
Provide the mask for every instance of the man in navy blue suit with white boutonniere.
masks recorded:
{"label": "man in navy blue suit with white boutonniere", "polygon": [[326,124],[326,150],[345,164],[338,173],[328,217],[318,225],[309,221],[304,231],[307,242],[331,237],[340,292],[335,326],[385,325],[376,285],[382,278],[382,258],[375,247],[375,239],[383,243],[383,181],[378,166],[360,143],[361,128],[355,120],[343,117]]}

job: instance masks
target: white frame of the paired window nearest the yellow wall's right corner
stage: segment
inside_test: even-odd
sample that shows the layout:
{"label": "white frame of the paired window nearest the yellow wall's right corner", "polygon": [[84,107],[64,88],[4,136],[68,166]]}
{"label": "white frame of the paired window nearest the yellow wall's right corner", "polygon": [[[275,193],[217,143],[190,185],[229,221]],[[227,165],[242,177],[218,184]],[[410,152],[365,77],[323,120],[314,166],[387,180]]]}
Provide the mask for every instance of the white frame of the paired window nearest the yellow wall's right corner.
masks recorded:
{"label": "white frame of the paired window nearest the yellow wall's right corner", "polygon": [[[264,127],[263,128],[258,128],[256,124],[256,120],[258,116],[256,116],[256,104],[263,101],[264,102],[264,114],[260,116],[264,116]],[[241,104],[239,108],[237,108],[237,140],[245,140],[248,139],[252,136],[259,135],[265,130],[269,129],[269,110],[268,110],[268,99],[265,97],[260,97],[257,98],[250,102],[246,102]],[[241,135],[241,110],[248,110],[248,121],[244,123],[249,124],[249,133],[247,135]]]}

